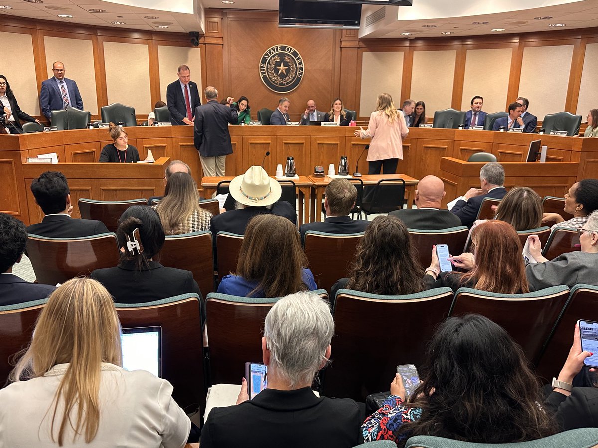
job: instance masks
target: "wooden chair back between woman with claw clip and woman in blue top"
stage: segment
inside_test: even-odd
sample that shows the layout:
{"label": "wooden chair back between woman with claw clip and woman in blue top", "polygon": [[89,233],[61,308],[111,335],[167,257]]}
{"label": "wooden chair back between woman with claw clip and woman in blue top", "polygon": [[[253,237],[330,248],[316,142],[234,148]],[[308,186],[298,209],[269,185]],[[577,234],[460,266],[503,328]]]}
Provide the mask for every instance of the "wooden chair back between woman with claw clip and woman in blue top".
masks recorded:
{"label": "wooden chair back between woman with claw clip and woman in blue top", "polygon": [[203,297],[215,291],[212,232],[166,237],[160,252],[160,263],[169,268],[193,272]]}

